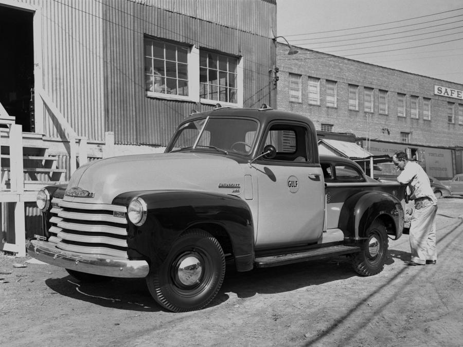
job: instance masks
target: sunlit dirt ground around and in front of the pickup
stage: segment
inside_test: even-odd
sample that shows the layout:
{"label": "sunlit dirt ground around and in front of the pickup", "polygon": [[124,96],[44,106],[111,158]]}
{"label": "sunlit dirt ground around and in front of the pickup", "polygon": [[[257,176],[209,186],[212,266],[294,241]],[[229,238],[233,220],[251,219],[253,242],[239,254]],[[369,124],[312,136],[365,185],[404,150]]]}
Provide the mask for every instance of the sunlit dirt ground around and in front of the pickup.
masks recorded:
{"label": "sunlit dirt ground around and in front of the pickup", "polygon": [[463,198],[439,199],[437,213],[437,265],[405,266],[403,235],[372,277],[343,257],[227,269],[215,300],[189,313],[164,311],[144,280],[81,284],[62,268],[0,255],[0,344],[461,346]]}

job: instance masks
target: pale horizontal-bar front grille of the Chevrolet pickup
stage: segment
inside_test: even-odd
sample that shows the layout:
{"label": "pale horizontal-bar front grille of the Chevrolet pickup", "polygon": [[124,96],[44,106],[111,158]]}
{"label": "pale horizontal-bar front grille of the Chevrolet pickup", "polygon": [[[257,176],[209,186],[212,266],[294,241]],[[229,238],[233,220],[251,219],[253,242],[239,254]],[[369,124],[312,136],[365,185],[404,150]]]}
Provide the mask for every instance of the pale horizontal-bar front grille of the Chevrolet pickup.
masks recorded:
{"label": "pale horizontal-bar front grille of the Chevrolet pickup", "polygon": [[127,259],[127,208],[51,200],[48,242],[62,250]]}

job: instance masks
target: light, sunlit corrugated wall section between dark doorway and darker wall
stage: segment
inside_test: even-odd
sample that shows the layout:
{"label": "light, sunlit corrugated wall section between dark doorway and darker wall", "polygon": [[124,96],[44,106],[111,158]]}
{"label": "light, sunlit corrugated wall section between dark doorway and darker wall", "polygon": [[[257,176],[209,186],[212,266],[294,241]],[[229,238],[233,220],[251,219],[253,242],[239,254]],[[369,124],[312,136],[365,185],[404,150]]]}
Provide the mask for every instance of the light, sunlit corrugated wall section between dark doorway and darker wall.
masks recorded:
{"label": "light, sunlit corrugated wall section between dark doorway and darker wall", "polygon": [[[40,10],[42,42],[36,44],[42,46],[46,94],[78,135],[103,140],[102,4],[87,0],[23,3]],[[44,118],[45,135],[61,137],[60,126],[46,107]]]}

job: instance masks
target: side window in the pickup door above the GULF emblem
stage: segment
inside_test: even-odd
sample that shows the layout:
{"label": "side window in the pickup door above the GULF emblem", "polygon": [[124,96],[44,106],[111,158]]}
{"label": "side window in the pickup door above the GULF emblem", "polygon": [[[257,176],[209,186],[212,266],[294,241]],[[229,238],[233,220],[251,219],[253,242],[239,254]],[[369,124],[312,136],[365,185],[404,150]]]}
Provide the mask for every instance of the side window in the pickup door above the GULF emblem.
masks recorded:
{"label": "side window in the pickup door above the GULF emblem", "polygon": [[274,124],[265,137],[264,146],[275,147],[277,154],[271,160],[307,162],[310,161],[307,140],[305,126]]}

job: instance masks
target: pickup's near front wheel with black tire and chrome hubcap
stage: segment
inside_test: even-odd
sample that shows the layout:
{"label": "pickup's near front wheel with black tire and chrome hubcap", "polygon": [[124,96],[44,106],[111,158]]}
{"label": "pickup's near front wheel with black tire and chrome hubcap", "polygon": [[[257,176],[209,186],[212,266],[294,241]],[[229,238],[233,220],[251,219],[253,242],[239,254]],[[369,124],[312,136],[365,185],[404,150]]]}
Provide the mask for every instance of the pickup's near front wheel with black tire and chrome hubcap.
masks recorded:
{"label": "pickup's near front wheel with black tire and chrome hubcap", "polygon": [[173,243],[146,283],[159,305],[187,312],[205,307],[217,295],[224,276],[225,257],[219,242],[204,230],[191,229]]}

